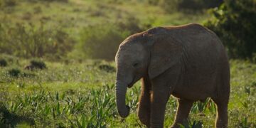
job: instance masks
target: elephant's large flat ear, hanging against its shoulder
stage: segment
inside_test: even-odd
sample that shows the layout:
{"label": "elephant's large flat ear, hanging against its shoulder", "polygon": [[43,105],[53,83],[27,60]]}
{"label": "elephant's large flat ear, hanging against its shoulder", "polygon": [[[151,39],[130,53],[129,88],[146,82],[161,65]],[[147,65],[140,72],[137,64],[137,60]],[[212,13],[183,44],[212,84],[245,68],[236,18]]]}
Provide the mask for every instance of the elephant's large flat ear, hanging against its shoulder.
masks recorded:
{"label": "elephant's large flat ear, hanging against its shoulder", "polygon": [[151,57],[149,63],[149,78],[164,73],[181,60],[182,46],[172,37],[161,37],[156,39],[151,46]]}

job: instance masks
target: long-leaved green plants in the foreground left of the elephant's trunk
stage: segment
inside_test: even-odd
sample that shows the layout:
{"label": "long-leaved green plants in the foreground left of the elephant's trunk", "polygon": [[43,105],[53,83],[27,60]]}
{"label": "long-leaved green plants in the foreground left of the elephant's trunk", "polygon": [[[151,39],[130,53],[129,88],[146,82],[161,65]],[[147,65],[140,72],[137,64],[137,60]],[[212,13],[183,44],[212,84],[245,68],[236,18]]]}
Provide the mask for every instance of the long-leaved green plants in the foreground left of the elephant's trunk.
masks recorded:
{"label": "long-leaved green plants in the foreground left of the elephant's trunk", "polygon": [[[113,89],[114,85],[106,85],[100,90],[91,90],[82,97],[70,97],[65,93],[60,95],[58,92],[50,93],[45,90],[34,91],[32,94],[17,96],[14,101],[9,102],[7,112],[21,114],[23,111],[23,114],[43,119],[38,120],[41,123],[65,117],[66,120],[60,120],[57,126],[106,127],[107,118],[117,116],[114,97],[109,94],[114,92]],[[88,102],[92,104],[87,104]]]}

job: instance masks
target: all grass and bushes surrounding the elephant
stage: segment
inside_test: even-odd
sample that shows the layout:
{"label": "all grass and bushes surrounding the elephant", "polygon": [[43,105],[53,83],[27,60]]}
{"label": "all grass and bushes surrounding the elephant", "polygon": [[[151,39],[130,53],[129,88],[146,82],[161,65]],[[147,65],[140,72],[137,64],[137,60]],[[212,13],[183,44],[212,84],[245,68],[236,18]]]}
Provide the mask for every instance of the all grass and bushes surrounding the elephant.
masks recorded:
{"label": "all grass and bushes surrounding the elephant", "polygon": [[[0,127],[144,127],[118,116],[114,54],[154,26],[201,23],[228,50],[230,127],[256,127],[255,0],[0,0]],[[171,97],[165,126],[171,125]],[[189,126],[213,127],[215,105],[196,102]]]}

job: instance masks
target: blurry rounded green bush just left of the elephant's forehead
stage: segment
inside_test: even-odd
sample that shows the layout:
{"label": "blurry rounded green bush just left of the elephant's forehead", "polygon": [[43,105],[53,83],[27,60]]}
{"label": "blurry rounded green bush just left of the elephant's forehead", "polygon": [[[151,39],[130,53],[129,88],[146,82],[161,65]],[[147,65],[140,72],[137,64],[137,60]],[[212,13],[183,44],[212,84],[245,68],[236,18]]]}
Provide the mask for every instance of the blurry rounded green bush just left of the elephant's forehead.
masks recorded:
{"label": "blurry rounded green bush just left of the elephant's forehead", "polygon": [[114,60],[119,43],[132,33],[142,31],[136,19],[129,22],[107,23],[83,28],[80,33],[79,52],[85,58]]}

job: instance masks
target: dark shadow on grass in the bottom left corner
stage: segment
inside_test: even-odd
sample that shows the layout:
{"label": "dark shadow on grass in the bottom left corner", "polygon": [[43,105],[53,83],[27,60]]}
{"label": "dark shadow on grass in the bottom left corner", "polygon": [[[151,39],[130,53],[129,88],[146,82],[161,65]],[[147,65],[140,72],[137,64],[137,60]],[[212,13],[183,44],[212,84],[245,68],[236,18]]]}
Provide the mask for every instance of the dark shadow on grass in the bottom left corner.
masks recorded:
{"label": "dark shadow on grass in the bottom left corner", "polygon": [[33,119],[9,112],[3,103],[0,102],[0,127],[16,127],[20,123],[26,123],[31,126],[35,125]]}

